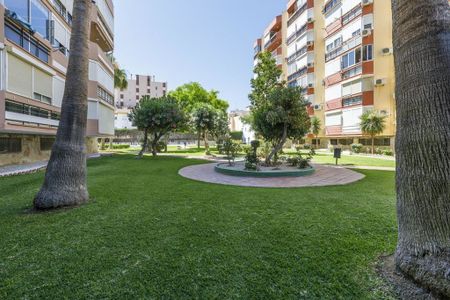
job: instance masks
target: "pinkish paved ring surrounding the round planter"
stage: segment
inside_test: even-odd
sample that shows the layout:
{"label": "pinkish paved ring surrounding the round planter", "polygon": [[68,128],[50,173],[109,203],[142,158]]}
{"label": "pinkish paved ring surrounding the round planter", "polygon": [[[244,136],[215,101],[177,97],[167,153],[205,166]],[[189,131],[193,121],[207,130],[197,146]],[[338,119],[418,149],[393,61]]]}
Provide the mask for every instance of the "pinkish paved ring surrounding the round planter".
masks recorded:
{"label": "pinkish paved ring surrounding the round planter", "polygon": [[228,176],[214,171],[216,164],[194,165],[181,169],[178,173],[186,178],[234,186],[292,188],[345,185],[359,181],[365,176],[342,167],[314,165],[316,172],[304,177],[253,178]]}

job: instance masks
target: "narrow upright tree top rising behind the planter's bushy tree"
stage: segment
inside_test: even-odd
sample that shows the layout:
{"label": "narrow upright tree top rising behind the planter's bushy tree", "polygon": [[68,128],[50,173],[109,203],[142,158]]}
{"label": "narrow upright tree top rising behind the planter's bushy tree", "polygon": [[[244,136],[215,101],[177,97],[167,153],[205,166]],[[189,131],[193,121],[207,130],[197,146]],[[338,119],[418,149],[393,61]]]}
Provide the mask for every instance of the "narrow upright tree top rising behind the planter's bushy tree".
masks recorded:
{"label": "narrow upright tree top rising behind the planter's bushy tree", "polygon": [[261,52],[258,60],[253,70],[255,78],[251,80],[252,93],[249,95],[251,105],[255,108],[265,104],[268,95],[280,85],[282,74],[270,52]]}

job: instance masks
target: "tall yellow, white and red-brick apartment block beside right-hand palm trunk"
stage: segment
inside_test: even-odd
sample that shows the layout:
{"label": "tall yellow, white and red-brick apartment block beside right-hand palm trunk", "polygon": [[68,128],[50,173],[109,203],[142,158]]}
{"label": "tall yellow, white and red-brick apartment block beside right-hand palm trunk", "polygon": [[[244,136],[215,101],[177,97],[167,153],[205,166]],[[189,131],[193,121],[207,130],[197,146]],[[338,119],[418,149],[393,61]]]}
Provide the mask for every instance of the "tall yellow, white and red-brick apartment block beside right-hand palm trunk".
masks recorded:
{"label": "tall yellow, white and red-brick apartment block beside right-hand palm trunk", "polygon": [[[369,145],[360,130],[360,116],[376,109],[387,116],[376,145],[393,148],[391,2],[290,0],[277,30],[286,34],[281,37],[285,45],[279,45],[286,49],[280,52],[286,53],[283,78],[290,86],[304,88],[310,116],[322,123],[321,146]],[[313,136],[307,141],[316,142]]]}

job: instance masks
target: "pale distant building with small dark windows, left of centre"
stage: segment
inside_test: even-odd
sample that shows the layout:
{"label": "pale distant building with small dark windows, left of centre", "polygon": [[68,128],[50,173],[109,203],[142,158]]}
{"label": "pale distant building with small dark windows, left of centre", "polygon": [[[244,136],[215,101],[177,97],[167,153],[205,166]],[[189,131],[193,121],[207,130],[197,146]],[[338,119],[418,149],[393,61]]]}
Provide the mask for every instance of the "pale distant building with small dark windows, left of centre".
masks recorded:
{"label": "pale distant building with small dark windows, left of centre", "polygon": [[161,98],[167,95],[167,82],[157,82],[155,76],[131,75],[128,79],[128,87],[121,91],[116,89],[115,99],[115,122],[116,129],[133,128],[128,120],[128,114],[144,96],[150,98]]}

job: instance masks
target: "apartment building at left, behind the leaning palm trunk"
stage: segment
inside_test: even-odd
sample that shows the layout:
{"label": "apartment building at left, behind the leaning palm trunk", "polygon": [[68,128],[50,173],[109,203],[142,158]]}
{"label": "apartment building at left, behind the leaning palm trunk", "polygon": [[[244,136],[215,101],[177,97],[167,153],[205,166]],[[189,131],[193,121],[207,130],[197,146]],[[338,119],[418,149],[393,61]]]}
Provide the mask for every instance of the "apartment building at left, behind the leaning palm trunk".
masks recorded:
{"label": "apartment building at left, behind the leaning palm trunk", "polygon": [[[0,165],[47,159],[70,54],[73,0],[0,0]],[[91,11],[87,147],[114,134],[114,6]]]}

